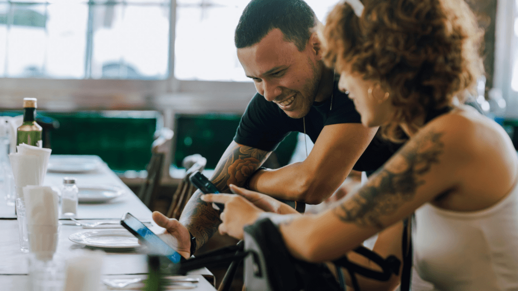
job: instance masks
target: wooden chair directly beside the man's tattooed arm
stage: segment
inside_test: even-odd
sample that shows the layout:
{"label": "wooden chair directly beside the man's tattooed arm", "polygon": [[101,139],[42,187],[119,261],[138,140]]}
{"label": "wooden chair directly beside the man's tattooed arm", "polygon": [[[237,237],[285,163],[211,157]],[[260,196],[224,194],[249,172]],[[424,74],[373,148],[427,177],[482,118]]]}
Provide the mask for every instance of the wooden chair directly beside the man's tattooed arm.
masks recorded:
{"label": "wooden chair directly beside the man's tattooed arm", "polygon": [[172,196],[171,205],[169,206],[169,210],[166,214],[167,217],[174,219],[180,218],[180,214],[182,213],[185,204],[196,191],[196,187],[191,183],[189,177],[191,177],[191,174],[195,171],[203,171],[206,164],[207,159],[199,154],[186,156],[183,159],[182,166],[186,169],[185,176],[178,184],[176,192]]}

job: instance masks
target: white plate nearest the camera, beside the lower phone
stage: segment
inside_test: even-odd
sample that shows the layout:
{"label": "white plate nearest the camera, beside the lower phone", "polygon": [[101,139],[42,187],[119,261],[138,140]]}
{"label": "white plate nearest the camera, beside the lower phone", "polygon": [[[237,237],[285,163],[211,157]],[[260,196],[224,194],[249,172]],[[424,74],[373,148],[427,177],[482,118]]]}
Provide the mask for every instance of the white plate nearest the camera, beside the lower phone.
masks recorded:
{"label": "white plate nearest the camera, beside the lower phone", "polygon": [[96,229],[76,232],[69,240],[99,249],[138,249],[143,245],[126,229]]}

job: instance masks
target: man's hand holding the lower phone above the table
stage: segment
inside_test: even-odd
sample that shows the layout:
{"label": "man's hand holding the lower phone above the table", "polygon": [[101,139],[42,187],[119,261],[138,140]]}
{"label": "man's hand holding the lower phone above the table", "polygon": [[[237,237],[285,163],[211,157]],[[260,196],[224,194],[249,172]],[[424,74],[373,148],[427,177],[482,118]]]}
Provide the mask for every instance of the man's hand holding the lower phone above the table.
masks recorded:
{"label": "man's hand holding the lower phone above the table", "polygon": [[165,228],[161,234],[157,234],[171,248],[175,249],[182,257],[191,257],[191,236],[189,230],[176,219],[169,219],[164,214],[154,211],[153,220],[160,227]]}

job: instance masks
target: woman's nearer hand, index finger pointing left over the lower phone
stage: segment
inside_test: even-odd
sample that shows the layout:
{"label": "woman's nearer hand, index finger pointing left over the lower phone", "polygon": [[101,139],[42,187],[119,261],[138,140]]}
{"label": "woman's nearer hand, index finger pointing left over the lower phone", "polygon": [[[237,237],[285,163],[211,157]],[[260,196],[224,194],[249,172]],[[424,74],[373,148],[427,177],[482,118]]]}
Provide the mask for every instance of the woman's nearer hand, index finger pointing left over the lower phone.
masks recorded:
{"label": "woman's nearer hand, index finger pointing left over the lower phone", "polygon": [[243,239],[243,227],[254,223],[264,211],[239,195],[206,194],[201,197],[205,202],[225,203],[225,210],[220,214],[222,223],[218,227],[220,234]]}

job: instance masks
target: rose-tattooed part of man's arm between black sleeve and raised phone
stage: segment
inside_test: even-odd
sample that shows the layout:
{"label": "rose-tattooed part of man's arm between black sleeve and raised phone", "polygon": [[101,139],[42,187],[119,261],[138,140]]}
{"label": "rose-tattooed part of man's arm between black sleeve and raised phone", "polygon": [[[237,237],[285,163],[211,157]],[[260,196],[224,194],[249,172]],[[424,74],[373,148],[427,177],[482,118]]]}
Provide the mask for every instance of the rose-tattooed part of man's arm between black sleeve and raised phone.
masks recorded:
{"label": "rose-tattooed part of man's arm between black sleeve and raised phone", "polygon": [[270,154],[271,152],[232,141],[221,156],[210,180],[222,192],[228,191],[229,184],[242,186]]}

